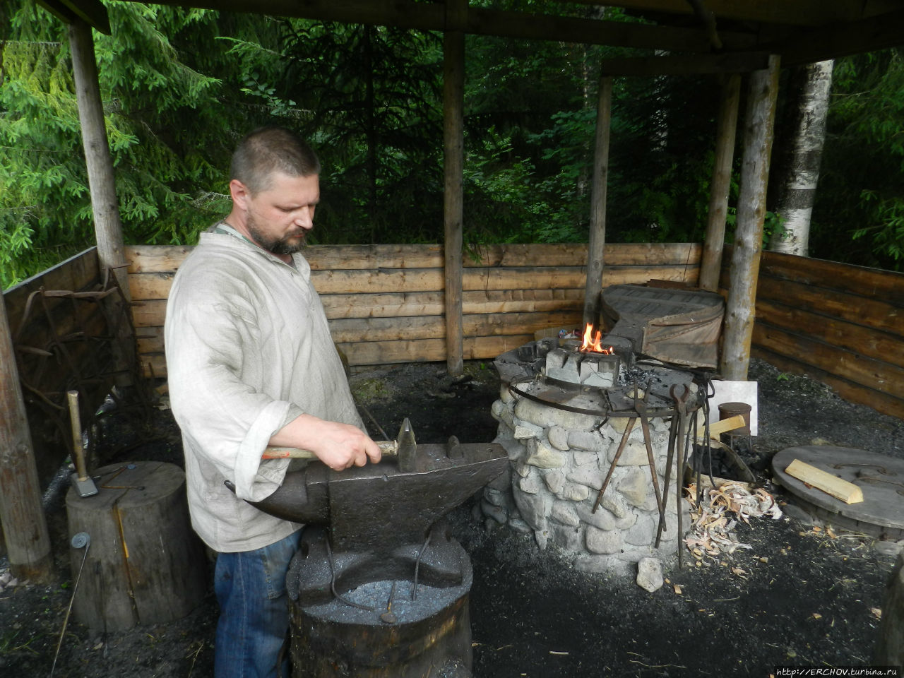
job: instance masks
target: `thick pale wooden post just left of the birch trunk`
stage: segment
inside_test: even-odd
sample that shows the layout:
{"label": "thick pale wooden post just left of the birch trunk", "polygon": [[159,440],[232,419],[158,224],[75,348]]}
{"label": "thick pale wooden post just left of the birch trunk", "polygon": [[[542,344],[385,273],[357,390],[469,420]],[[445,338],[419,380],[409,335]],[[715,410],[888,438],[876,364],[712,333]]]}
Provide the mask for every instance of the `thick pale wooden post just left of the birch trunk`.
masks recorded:
{"label": "thick pale wooden post just left of the birch trunk", "polygon": [[763,221],[766,217],[769,155],[772,153],[776,119],[778,62],[777,55],[770,56],[768,69],[750,74],[738,221],[731,256],[720,365],[722,377],[732,381],[746,381],[750,363],[750,339],[753,335],[759,259],[763,247]]}

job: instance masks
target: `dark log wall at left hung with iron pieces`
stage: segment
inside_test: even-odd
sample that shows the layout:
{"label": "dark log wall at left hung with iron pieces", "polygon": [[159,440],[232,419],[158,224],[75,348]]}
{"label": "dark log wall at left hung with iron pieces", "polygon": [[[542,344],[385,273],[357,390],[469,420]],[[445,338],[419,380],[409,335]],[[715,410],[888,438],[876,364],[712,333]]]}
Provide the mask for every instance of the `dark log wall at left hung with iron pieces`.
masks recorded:
{"label": "dark log wall at left hung with iron pieces", "polygon": [[112,358],[101,339],[110,330],[94,294],[101,283],[97,248],[91,248],[3,295],[42,486],[71,452],[66,391],[80,391],[86,426],[112,387],[105,376]]}

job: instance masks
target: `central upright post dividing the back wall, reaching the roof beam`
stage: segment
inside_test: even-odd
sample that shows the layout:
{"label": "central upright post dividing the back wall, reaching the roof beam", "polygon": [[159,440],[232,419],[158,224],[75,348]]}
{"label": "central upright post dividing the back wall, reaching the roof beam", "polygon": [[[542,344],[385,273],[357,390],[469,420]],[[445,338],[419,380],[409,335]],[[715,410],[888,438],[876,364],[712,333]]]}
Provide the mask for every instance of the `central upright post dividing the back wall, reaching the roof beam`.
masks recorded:
{"label": "central upright post dividing the back wall, reaching the roof beam", "polygon": [[465,167],[465,24],[466,0],[447,2],[443,42],[443,151],[446,224],[446,364],[449,374],[465,370],[462,328],[462,240]]}

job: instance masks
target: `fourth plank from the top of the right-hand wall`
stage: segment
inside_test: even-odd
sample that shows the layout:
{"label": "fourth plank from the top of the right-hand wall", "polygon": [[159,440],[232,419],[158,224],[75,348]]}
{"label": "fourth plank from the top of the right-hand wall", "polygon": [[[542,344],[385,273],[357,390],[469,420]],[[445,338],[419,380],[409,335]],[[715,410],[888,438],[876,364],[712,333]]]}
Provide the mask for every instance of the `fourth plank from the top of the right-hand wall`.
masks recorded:
{"label": "fourth plank from the top of the right-hand wall", "polygon": [[758,323],[754,343],[773,353],[786,355],[799,363],[812,365],[853,383],[904,399],[904,369],[853,349],[822,344],[810,337],[786,332],[778,327]]}

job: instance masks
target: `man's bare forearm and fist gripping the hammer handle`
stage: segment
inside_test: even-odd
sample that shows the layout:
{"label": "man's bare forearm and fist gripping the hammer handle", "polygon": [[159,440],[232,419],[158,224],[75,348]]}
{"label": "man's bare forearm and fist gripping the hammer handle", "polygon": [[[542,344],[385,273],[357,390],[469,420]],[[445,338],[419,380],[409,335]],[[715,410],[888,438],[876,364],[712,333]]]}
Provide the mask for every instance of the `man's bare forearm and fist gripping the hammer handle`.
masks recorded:
{"label": "man's bare forearm and fist gripping the hammer handle", "polygon": [[309,449],[334,471],[380,461],[380,447],[360,428],[302,414],[280,428],[269,441],[276,447]]}

